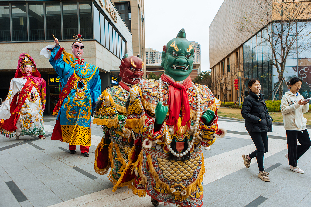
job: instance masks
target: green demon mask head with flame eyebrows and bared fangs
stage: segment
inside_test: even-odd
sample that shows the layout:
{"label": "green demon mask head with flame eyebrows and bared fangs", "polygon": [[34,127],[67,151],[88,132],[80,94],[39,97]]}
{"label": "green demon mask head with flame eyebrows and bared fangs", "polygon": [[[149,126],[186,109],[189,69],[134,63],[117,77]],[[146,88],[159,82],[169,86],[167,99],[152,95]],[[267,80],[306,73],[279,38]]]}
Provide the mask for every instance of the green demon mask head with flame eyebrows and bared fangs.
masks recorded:
{"label": "green demon mask head with flame eyebrows and bared fangs", "polygon": [[176,38],[164,45],[161,66],[165,74],[175,81],[186,79],[192,71],[193,45],[186,39],[184,29],[181,29]]}

